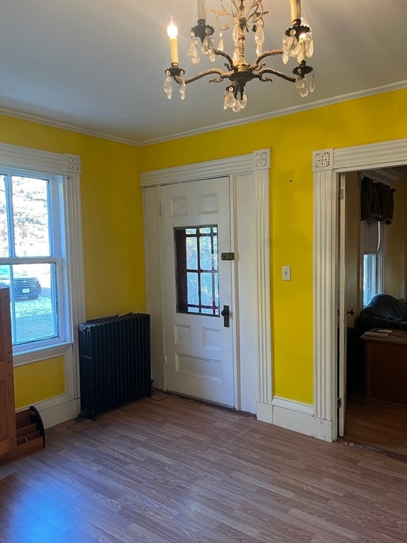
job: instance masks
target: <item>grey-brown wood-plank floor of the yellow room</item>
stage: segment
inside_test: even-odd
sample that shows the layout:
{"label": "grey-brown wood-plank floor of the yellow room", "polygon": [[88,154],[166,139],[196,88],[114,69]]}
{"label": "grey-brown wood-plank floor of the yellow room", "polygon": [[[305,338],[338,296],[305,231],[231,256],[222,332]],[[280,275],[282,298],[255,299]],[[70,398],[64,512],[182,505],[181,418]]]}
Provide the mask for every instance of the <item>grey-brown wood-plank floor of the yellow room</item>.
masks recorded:
{"label": "grey-brown wood-plank floor of the yellow room", "polygon": [[0,468],[2,543],[405,543],[407,464],[174,396]]}

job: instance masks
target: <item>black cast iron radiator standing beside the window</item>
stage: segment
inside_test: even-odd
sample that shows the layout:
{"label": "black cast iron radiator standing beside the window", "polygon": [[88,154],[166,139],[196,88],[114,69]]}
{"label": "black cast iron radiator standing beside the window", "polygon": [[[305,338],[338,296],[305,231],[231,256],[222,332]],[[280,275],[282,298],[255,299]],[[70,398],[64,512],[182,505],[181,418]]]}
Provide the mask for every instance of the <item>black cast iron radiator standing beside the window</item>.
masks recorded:
{"label": "black cast iron radiator standing beside the window", "polygon": [[81,416],[94,418],[151,396],[150,315],[129,313],[78,327]]}

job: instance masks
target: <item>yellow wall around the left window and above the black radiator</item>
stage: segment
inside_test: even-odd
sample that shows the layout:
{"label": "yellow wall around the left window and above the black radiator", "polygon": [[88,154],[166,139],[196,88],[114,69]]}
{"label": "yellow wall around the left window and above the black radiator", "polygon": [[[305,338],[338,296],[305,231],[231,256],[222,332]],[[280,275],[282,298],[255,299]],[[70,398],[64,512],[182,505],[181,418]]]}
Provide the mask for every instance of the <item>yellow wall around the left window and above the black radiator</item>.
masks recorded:
{"label": "yellow wall around the left window and above the black radiator", "polygon": [[[0,117],[0,141],[81,156],[86,317],[145,312],[140,150],[6,116]],[[61,394],[64,364],[51,364],[52,374],[49,365],[16,367],[17,407]]]}

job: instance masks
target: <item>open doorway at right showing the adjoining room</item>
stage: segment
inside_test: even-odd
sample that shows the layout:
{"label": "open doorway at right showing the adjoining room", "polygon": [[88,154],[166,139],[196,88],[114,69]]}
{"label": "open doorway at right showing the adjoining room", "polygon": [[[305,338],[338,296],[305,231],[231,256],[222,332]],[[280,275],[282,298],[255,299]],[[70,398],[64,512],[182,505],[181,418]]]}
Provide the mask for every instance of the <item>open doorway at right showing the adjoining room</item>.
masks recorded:
{"label": "open doorway at right showing the adjoining room", "polygon": [[[391,321],[385,306],[383,315],[377,314],[381,320],[369,315],[387,299],[399,303],[401,310],[407,302],[407,167],[358,170],[344,177],[346,214],[339,216],[340,221],[346,217],[346,239],[345,251],[340,251],[344,262],[341,257],[339,261],[345,272],[346,361],[339,382],[343,378],[346,402],[340,439],[407,459],[407,394],[401,385],[407,371],[406,361],[401,360],[407,357],[403,354],[407,331],[402,331],[405,326],[396,315]],[[362,220],[360,187],[366,180],[376,188],[383,184],[394,191],[394,215],[387,224],[376,218]],[[363,334],[377,327],[387,330],[383,334],[391,344],[379,343],[384,341],[379,337],[367,345],[369,338]],[[399,346],[400,341],[406,345]]]}

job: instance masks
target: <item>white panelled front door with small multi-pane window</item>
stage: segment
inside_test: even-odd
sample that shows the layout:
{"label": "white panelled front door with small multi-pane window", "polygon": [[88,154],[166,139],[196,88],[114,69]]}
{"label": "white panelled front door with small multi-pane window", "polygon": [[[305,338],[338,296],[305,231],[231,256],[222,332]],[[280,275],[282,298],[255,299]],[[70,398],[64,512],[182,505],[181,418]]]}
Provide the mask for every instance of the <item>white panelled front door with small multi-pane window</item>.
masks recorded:
{"label": "white panelled front door with small multi-pane window", "polygon": [[229,177],[160,190],[165,390],[235,407]]}

